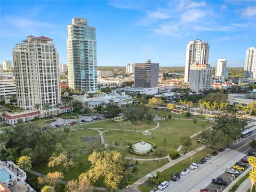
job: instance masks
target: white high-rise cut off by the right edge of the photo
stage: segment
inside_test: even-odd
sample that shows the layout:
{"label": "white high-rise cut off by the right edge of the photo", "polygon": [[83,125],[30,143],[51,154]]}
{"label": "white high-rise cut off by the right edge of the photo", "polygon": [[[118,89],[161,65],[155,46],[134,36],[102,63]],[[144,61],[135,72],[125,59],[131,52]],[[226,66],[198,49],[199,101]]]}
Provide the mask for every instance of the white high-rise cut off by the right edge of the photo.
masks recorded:
{"label": "white high-rise cut off by the right edge of the photo", "polygon": [[246,51],[244,78],[256,79],[256,47]]}

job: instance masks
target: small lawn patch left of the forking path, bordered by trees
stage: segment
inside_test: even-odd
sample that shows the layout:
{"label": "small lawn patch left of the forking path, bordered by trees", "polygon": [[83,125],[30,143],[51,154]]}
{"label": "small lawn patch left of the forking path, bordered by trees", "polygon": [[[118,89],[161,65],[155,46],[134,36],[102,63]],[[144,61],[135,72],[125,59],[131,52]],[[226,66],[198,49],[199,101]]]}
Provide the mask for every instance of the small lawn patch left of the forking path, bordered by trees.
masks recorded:
{"label": "small lawn patch left of the forking path, bordered by trees", "polygon": [[[75,142],[84,142],[82,137],[100,137],[100,133],[95,130],[71,130],[70,139]],[[100,138],[98,139],[100,140]]]}

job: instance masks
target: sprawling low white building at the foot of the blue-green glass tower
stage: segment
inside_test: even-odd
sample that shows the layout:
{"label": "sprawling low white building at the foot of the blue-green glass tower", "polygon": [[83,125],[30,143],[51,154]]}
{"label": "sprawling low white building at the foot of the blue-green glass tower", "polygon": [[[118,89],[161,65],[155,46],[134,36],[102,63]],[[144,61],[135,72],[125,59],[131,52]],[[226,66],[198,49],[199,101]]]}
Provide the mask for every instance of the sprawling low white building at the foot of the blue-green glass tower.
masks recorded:
{"label": "sprawling low white building at the foot of the blue-green glass tower", "polygon": [[73,95],[73,100],[82,102],[85,107],[93,109],[94,107],[106,107],[108,105],[125,106],[133,103],[132,96],[125,93],[100,93],[92,98],[87,98],[86,95]]}

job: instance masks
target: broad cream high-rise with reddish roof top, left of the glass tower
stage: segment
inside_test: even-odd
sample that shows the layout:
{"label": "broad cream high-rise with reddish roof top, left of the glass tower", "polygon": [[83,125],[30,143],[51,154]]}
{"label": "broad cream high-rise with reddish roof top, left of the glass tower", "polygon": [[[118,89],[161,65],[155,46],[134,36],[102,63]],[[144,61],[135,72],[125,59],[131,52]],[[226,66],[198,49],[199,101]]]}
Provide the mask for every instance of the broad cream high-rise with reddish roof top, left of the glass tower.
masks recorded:
{"label": "broad cream high-rise with reddish roof top, left of the glass tower", "polygon": [[57,103],[61,103],[59,55],[52,39],[28,36],[13,49],[14,76],[16,80],[17,105],[35,109],[40,105],[46,116],[45,104],[49,103],[49,115],[57,115]]}

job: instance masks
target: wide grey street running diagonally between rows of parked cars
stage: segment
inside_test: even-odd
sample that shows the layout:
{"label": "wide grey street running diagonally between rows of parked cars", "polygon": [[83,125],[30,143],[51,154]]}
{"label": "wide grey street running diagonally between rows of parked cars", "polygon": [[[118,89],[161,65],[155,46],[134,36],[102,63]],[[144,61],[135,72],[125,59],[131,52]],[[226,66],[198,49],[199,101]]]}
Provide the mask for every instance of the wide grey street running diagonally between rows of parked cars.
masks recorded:
{"label": "wide grey street running diagonally between rows of parked cars", "polygon": [[247,155],[250,149],[249,142],[253,138],[256,138],[256,131],[254,131],[250,137],[243,139],[230,149],[226,148],[225,151],[219,152],[217,156],[213,156],[205,164],[200,165],[197,170],[190,170],[187,175],[181,175],[178,182],[169,181],[169,187],[164,189],[164,191],[200,191],[200,189],[209,185],[212,179],[225,172],[226,168],[232,166]]}

